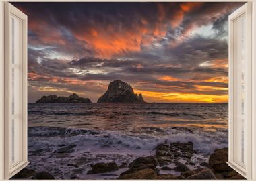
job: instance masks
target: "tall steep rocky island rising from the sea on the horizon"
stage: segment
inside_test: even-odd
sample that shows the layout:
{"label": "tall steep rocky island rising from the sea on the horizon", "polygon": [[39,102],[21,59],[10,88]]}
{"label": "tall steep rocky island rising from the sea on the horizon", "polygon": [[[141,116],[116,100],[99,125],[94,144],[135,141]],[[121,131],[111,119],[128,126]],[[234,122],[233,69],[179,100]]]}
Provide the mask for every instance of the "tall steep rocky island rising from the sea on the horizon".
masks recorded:
{"label": "tall steep rocky island rising from the sea on the horizon", "polygon": [[98,99],[98,103],[145,103],[141,94],[133,92],[133,88],[121,80],[110,82],[108,90]]}

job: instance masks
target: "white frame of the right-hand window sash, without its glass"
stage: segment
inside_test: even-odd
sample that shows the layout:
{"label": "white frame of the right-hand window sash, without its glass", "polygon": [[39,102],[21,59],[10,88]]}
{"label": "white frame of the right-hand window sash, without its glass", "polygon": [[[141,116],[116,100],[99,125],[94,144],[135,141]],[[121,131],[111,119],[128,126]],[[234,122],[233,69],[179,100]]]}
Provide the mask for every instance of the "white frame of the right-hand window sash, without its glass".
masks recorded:
{"label": "white frame of the right-hand window sash, without its glass", "polygon": [[[228,84],[228,135],[229,135],[229,142],[228,142],[228,165],[239,174],[244,176],[245,178],[251,178],[251,164],[252,164],[252,54],[251,54],[251,2],[246,3],[242,7],[236,9],[234,13],[229,15],[228,18],[228,35],[229,35],[229,84]],[[244,100],[244,109],[245,109],[245,115],[241,119],[245,119],[245,125],[244,125],[244,154],[243,154],[243,160],[245,163],[238,162],[236,158],[241,157],[241,150],[240,152],[236,152],[236,148],[242,148],[241,147],[241,140],[235,139],[237,134],[237,129],[242,130],[242,127],[240,124],[236,124],[238,121],[241,122],[241,115],[237,115],[236,109],[237,107],[241,108],[241,102],[236,101],[241,99],[241,97],[236,97],[235,92],[236,90],[236,84],[239,84],[239,82],[236,82],[236,76],[241,76],[240,74],[236,74],[234,72],[236,70],[236,66],[238,64],[236,62],[240,62],[241,60],[236,60],[236,52],[239,52],[237,50],[236,46],[238,46],[238,43],[236,42],[236,37],[238,34],[236,34],[236,20],[245,17],[245,26],[243,29],[245,29],[245,100]],[[240,87],[240,86],[239,86]],[[242,114],[242,113],[241,113]],[[238,117],[237,117],[238,116]],[[242,137],[241,137],[242,139]]]}

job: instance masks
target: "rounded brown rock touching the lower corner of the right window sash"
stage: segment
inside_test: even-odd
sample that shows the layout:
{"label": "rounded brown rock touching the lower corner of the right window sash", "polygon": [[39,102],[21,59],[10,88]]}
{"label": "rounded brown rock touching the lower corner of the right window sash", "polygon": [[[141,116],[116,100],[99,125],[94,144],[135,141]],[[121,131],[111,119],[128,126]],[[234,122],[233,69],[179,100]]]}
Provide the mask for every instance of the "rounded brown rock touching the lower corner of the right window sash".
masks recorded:
{"label": "rounded brown rock touching the lower corner of the right window sash", "polygon": [[232,170],[228,164],[228,148],[215,149],[209,158],[209,166],[216,172],[226,172]]}

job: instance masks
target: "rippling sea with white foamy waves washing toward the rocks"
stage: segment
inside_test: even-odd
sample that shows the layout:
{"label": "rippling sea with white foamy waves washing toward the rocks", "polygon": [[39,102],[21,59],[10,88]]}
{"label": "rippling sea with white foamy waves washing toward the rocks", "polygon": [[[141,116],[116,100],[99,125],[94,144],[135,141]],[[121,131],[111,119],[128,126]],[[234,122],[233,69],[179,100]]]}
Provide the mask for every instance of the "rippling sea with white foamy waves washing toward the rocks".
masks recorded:
{"label": "rippling sea with white foamy waves washing toward the rocks", "polygon": [[188,141],[191,169],[228,147],[228,103],[28,103],[28,168],[56,179],[115,179],[128,168],[87,172],[91,164],[125,165],[162,143]]}

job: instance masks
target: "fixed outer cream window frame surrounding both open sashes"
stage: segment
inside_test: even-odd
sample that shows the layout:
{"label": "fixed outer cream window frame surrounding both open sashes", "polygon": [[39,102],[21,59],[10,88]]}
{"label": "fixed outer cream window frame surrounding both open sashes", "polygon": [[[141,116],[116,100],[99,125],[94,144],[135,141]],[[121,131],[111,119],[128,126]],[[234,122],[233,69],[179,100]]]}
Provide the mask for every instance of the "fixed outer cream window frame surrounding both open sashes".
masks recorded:
{"label": "fixed outer cream window frame surrounding both open sashes", "polygon": [[[33,0],[16,0],[16,1],[32,1]],[[35,1],[35,0],[34,0]],[[69,1],[69,0],[41,0],[41,1]],[[83,0],[76,0],[76,1],[83,1]],[[88,0],[93,1],[93,0]],[[101,0],[101,1],[109,1],[109,0]],[[121,0],[117,0],[121,1]],[[127,0],[125,0],[127,1]],[[156,0],[131,0],[131,1],[156,1]],[[183,2],[184,0],[162,0],[166,2]],[[189,1],[185,0],[184,2]],[[190,0],[190,1],[202,1],[202,0]],[[202,2],[210,2],[212,0],[204,0]],[[216,0],[219,2],[222,2],[223,0]],[[239,1],[239,0],[234,0]],[[223,2],[234,2],[230,0],[224,0]],[[252,84],[251,84],[251,138],[249,138],[251,141],[251,156],[248,156],[248,158],[251,160],[251,173],[249,173],[247,176],[249,176],[248,180],[255,180],[256,181],[256,0],[241,0],[243,2],[251,2],[252,3],[252,26],[251,26],[251,40],[252,40]],[[5,149],[5,143],[4,143],[4,3],[7,2],[5,0],[0,0],[0,180],[6,180],[5,178],[5,156],[4,156],[4,149]],[[11,2],[11,1],[9,1]],[[232,149],[232,148],[231,148]],[[232,161],[232,160],[229,160]],[[232,162],[228,162],[230,166],[232,166]],[[243,174],[243,173],[241,173]]]}

